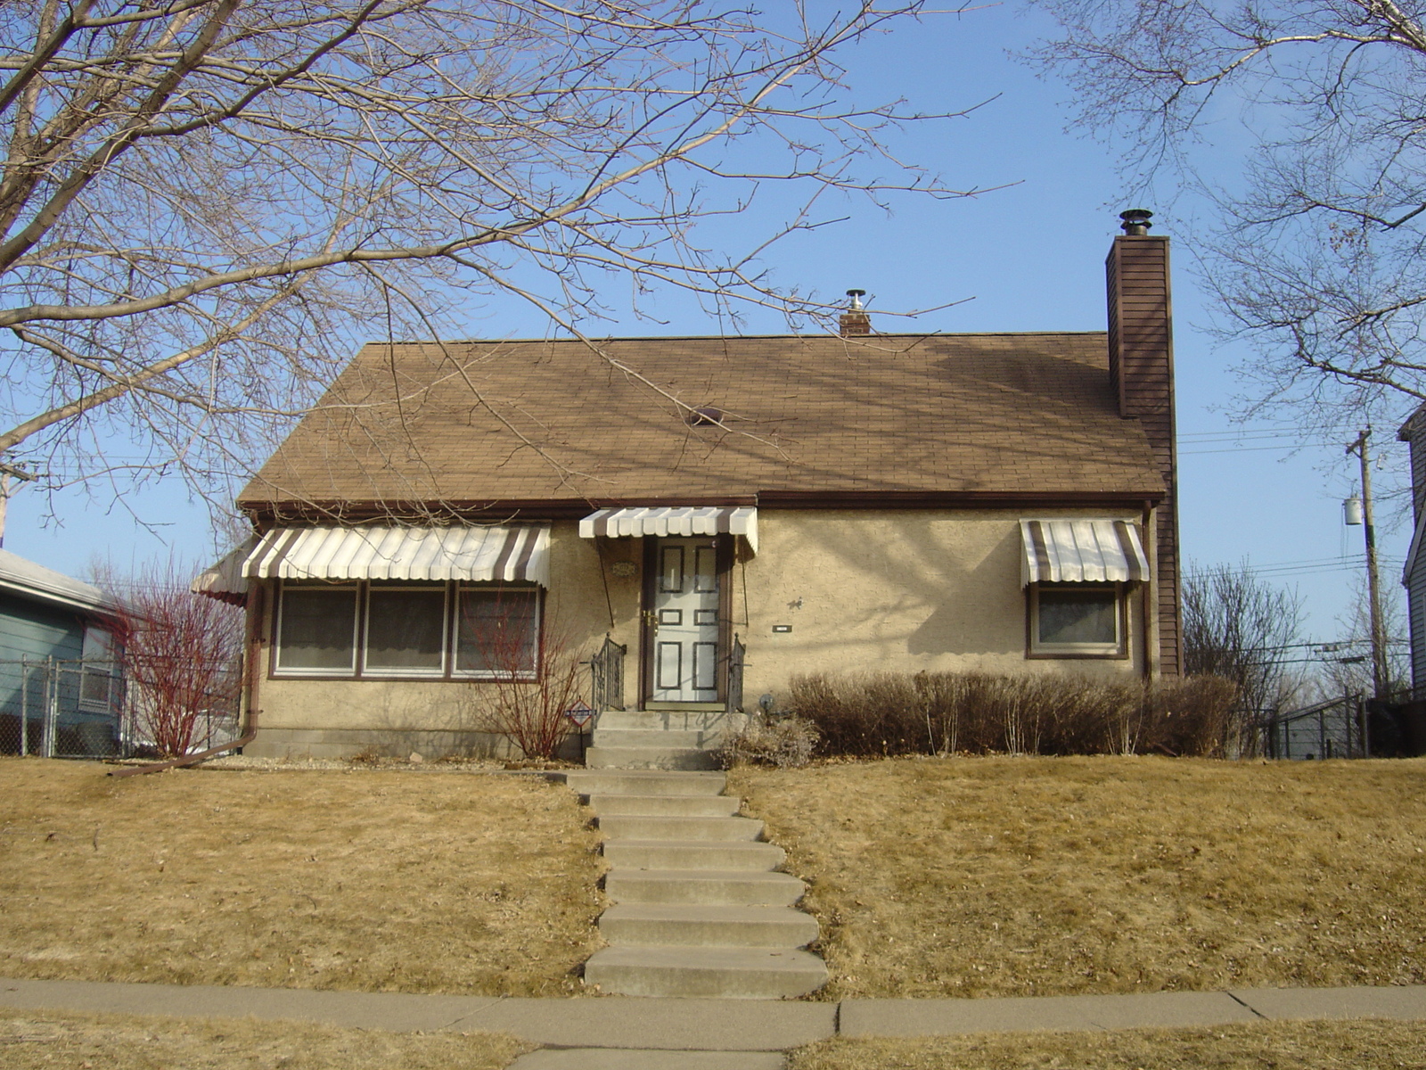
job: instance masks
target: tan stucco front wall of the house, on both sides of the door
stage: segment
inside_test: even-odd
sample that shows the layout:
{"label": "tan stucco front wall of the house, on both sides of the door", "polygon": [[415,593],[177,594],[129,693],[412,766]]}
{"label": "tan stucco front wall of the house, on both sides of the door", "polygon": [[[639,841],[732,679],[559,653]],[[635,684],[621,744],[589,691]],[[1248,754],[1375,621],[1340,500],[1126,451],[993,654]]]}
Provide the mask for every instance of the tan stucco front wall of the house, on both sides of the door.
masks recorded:
{"label": "tan stucco front wall of the house, on both sides of the door", "polygon": [[[1025,656],[1018,521],[1030,515],[1141,519],[1102,509],[760,511],[759,551],[750,555],[739,546],[730,576],[732,631],[747,648],[746,705],[754,706],[764,692],[777,696],[793,675],[807,672],[1141,673],[1144,602],[1134,586],[1127,598],[1128,656]],[[552,526],[546,642],[582,659],[606,633],[625,643],[630,708],[639,702],[642,571],[643,539],[580,539],[576,522]],[[489,685],[270,676],[275,603],[264,599],[254,753],[355,753],[374,745],[426,756],[499,749],[498,740],[476,733],[469,702],[475,689]],[[774,632],[774,625],[791,631]]]}

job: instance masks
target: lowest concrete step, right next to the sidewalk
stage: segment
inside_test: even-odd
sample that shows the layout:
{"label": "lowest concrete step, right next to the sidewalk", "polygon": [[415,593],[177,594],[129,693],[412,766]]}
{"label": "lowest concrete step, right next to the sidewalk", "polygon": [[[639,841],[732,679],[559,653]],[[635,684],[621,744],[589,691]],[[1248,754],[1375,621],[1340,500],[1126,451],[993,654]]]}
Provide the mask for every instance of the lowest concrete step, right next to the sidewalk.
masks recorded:
{"label": "lowest concrete step, right next to the sidewalk", "polygon": [[790,999],[827,983],[809,952],[766,947],[603,947],[585,963],[585,984],[619,996]]}

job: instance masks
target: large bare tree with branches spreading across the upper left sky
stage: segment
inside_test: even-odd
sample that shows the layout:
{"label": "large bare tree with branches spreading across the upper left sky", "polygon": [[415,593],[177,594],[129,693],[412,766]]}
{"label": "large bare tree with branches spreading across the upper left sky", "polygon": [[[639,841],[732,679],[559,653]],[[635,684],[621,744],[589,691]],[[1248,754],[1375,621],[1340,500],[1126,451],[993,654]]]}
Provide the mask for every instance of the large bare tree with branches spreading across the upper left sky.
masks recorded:
{"label": "large bare tree with branches spreading across the upper left sky", "polygon": [[202,486],[356,340],[439,337],[499,295],[578,334],[612,275],[826,312],[696,224],[770,200],[770,241],[827,190],[954,195],[884,141],[925,116],[850,103],[836,60],[920,11],[0,0],[0,454],[51,485]]}

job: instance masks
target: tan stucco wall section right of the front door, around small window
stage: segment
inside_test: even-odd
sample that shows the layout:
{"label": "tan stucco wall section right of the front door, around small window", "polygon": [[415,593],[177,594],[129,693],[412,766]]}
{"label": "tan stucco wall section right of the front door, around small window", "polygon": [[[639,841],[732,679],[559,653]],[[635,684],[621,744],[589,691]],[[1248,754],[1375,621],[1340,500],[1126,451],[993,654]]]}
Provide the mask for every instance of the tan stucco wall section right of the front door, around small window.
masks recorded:
{"label": "tan stucco wall section right of the front door, around small window", "polygon": [[1142,599],[1132,588],[1127,658],[1025,656],[1018,522],[1030,515],[1139,519],[1064,509],[759,511],[759,552],[733,576],[746,700],[776,696],[796,673],[847,669],[1142,672]]}

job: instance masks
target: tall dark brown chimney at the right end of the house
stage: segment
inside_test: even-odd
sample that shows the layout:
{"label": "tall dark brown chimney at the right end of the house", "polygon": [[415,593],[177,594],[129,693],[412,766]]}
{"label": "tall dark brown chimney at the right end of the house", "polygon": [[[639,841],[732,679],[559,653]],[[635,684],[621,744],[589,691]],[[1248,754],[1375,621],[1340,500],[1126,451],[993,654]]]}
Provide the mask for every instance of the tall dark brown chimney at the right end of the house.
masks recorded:
{"label": "tall dark brown chimney at the right end of the house", "polygon": [[1147,605],[1151,662],[1165,676],[1184,668],[1179,613],[1178,451],[1174,442],[1174,318],[1169,298],[1168,238],[1151,235],[1154,213],[1119,213],[1124,234],[1105,260],[1109,298],[1109,382],[1119,415],[1138,419],[1168,496],[1152,511],[1158,574]]}

